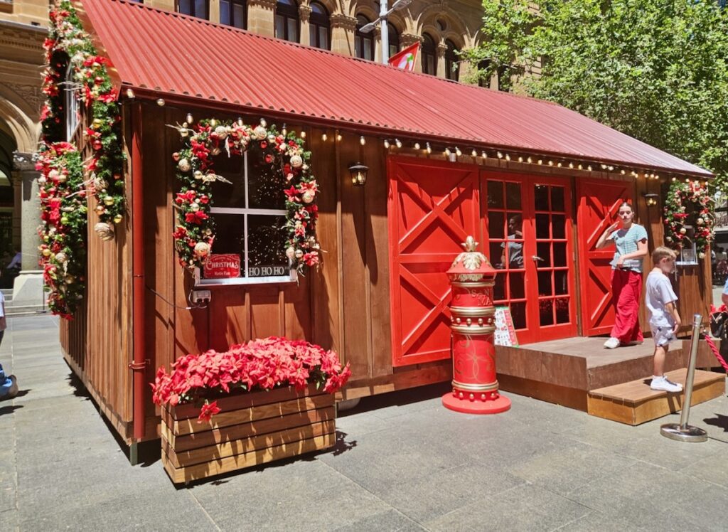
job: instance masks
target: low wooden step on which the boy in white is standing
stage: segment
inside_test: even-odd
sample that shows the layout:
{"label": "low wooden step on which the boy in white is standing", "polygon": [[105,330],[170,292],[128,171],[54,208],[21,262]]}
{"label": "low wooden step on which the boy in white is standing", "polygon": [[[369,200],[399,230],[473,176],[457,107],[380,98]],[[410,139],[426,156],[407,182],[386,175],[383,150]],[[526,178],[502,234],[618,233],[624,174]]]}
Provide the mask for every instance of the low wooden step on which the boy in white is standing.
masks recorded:
{"label": "low wooden step on which the boy in white is standing", "polygon": [[[686,368],[665,373],[669,380],[683,386],[686,374]],[[638,379],[591,390],[587,396],[587,412],[598,418],[639,425],[682,409],[684,392],[668,394],[666,391],[655,391],[649,387],[649,382],[649,378]],[[724,393],[724,374],[695,370],[691,404],[709,401]]]}

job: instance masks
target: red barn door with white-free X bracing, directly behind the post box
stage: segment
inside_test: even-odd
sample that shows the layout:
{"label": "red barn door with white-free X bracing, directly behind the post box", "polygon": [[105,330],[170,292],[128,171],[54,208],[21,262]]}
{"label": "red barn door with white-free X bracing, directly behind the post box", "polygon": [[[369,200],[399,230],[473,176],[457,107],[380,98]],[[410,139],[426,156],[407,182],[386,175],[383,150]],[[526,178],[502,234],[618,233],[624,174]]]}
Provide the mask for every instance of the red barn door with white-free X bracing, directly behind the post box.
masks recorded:
{"label": "red barn door with white-free X bracing, directly behind the post box", "polygon": [[392,364],[450,357],[445,272],[467,235],[480,238],[478,168],[389,158]]}

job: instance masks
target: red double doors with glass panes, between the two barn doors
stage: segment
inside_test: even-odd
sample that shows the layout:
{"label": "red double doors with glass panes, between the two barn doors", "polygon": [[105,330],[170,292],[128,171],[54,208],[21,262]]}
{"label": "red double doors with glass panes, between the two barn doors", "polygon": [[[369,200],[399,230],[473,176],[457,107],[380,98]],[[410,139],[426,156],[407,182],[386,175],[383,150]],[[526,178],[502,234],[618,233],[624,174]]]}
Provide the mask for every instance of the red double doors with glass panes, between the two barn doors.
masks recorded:
{"label": "red double doors with glass panes, between the two barn doors", "polygon": [[494,302],[510,308],[518,343],[576,335],[569,179],[485,172],[481,186]]}

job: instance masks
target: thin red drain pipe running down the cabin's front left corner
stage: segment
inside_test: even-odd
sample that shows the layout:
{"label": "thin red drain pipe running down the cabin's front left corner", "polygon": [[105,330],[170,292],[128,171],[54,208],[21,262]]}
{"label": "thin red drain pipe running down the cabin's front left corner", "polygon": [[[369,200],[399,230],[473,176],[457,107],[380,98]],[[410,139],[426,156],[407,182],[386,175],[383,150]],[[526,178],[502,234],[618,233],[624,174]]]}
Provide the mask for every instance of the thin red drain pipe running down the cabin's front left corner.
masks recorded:
{"label": "thin red drain pipe running down the cabin's front left corner", "polygon": [[133,103],[132,122],[132,337],[134,361],[129,364],[133,372],[134,436],[129,460],[139,463],[138,444],[144,438],[146,424],[146,338],[144,335],[144,194],[143,160],[141,150],[142,106]]}

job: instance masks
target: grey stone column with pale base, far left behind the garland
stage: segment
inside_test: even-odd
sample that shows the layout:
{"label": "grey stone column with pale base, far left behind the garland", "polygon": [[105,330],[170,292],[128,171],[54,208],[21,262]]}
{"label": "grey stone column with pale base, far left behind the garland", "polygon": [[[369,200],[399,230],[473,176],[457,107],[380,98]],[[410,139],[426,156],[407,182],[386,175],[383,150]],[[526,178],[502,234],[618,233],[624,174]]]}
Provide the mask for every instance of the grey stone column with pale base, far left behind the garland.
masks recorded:
{"label": "grey stone column with pale base, far left behind the garland", "polygon": [[41,224],[38,177],[35,163],[29,153],[13,154],[13,176],[20,182],[20,253],[23,254],[20,275],[12,289],[13,307],[39,307],[44,305],[43,272],[38,265],[38,226]]}

